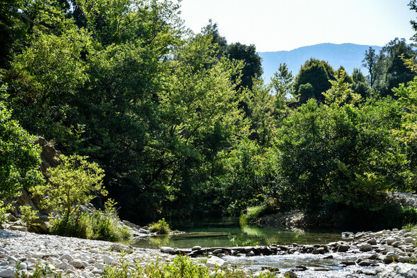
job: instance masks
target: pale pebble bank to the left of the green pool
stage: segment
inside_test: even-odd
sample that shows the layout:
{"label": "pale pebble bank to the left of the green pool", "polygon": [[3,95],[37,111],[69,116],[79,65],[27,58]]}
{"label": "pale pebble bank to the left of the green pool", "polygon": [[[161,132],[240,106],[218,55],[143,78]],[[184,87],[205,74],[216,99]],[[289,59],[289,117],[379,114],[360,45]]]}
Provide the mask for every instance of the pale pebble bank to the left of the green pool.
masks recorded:
{"label": "pale pebble bank to the left of the green pool", "polygon": [[37,265],[49,266],[72,277],[100,277],[107,265],[121,265],[122,252],[131,268],[135,261],[145,265],[172,259],[169,254],[157,250],[8,229],[0,229],[0,239],[0,277],[14,277],[15,272],[31,272]]}

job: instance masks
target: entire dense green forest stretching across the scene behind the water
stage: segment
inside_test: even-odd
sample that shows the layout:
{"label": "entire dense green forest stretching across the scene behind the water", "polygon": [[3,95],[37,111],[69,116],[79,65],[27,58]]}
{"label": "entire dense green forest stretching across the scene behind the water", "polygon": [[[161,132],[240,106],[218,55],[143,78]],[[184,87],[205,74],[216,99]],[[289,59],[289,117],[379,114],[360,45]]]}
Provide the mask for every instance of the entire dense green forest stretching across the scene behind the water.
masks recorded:
{"label": "entire dense green forest stretching across the scene behind the water", "polygon": [[1,0],[0,51],[1,198],[44,182],[33,134],[103,169],[136,222],[254,206],[417,216],[386,197],[417,191],[417,51],[404,39],[363,53],[368,74],[311,58],[262,80],[254,45],[211,21],[191,32],[179,3]]}

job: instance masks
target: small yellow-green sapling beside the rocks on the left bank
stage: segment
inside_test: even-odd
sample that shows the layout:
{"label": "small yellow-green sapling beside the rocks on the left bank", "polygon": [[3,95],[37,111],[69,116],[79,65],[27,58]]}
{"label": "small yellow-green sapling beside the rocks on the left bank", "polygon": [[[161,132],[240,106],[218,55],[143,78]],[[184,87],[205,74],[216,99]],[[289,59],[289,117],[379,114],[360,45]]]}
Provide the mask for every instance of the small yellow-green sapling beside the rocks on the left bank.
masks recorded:
{"label": "small yellow-green sapling beside the rocks on the left bank", "polygon": [[48,182],[31,191],[40,196],[42,207],[53,207],[67,217],[79,213],[79,206],[90,202],[97,194],[106,196],[102,187],[104,171],[88,157],[60,155],[56,168],[48,168]]}

